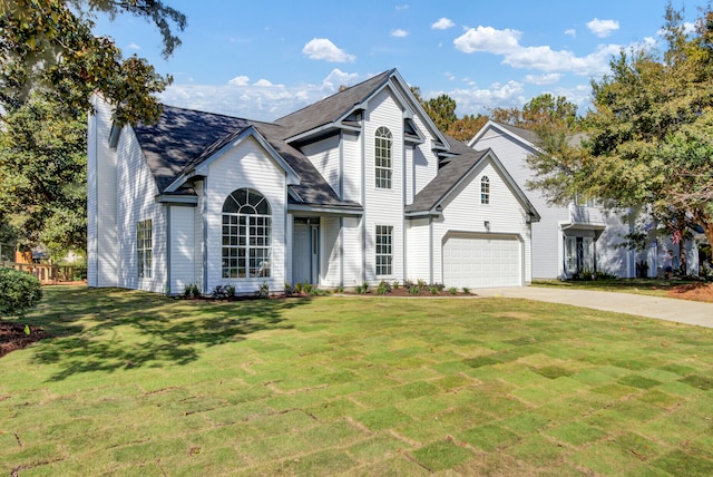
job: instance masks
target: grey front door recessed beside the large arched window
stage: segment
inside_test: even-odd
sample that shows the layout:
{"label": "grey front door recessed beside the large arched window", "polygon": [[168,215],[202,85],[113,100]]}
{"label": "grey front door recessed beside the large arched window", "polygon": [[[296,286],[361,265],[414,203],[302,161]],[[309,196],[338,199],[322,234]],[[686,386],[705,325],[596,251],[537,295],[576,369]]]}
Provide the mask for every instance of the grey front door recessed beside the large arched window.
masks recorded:
{"label": "grey front door recessed beside the large arched window", "polygon": [[295,218],[292,244],[292,282],[320,283],[319,218]]}

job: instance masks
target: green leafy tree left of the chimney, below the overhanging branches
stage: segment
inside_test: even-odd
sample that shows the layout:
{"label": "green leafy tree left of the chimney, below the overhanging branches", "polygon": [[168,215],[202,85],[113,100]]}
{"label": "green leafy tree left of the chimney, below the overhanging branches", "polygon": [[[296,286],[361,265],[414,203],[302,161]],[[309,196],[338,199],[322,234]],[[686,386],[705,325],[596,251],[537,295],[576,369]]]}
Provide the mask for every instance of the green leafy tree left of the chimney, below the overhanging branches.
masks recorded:
{"label": "green leafy tree left of the chimney, below the overhanging branches", "polygon": [[4,118],[0,222],[59,259],[86,244],[87,124],[47,96],[33,93]]}

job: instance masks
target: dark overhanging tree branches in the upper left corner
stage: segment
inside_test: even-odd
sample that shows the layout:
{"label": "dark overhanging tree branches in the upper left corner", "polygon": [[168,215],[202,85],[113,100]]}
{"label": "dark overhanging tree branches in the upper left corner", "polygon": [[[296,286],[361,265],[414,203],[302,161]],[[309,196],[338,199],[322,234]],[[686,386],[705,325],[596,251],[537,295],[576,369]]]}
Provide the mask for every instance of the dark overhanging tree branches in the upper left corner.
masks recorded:
{"label": "dark overhanging tree branches in the upper left corner", "polygon": [[116,108],[116,121],[154,121],[155,97],[170,82],[145,59],[124,59],[108,37],[91,32],[92,18],[119,13],[144,17],[163,36],[165,56],[180,45],[174,28],[186,18],[160,0],[0,0],[0,104],[6,113],[45,90],[68,110],[85,113],[99,90]]}

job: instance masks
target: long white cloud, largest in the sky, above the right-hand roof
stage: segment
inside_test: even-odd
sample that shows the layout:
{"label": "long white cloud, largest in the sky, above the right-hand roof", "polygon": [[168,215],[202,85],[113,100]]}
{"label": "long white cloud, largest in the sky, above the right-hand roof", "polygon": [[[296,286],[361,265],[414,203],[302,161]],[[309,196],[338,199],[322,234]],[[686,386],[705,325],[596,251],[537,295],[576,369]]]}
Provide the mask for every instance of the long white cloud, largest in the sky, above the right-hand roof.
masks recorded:
{"label": "long white cloud, largest in the sky, above the right-hand roof", "polygon": [[538,69],[546,72],[568,71],[579,76],[600,76],[609,71],[609,59],[617,55],[617,45],[599,46],[585,56],[572,51],[553,50],[548,46],[524,47],[519,43],[521,32],[496,30],[492,27],[470,28],[453,40],[457,49],[466,53],[489,52],[501,55],[502,64],[512,68]]}

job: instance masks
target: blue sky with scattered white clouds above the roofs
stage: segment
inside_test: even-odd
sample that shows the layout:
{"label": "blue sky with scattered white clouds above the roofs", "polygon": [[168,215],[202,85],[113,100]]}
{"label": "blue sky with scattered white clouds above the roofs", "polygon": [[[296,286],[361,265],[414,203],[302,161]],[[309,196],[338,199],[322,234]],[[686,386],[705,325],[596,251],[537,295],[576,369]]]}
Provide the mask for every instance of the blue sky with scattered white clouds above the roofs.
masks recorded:
{"label": "blue sky with scattered white clouds above the roofs", "polygon": [[[457,114],[521,106],[551,93],[588,107],[590,80],[622,48],[656,48],[665,0],[217,1],[168,0],[187,16],[183,45],[134,17],[97,19],[125,56],[174,76],[166,104],[272,120],[398,68]],[[704,1],[673,0],[693,22]]]}

